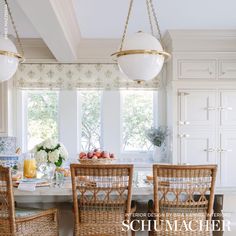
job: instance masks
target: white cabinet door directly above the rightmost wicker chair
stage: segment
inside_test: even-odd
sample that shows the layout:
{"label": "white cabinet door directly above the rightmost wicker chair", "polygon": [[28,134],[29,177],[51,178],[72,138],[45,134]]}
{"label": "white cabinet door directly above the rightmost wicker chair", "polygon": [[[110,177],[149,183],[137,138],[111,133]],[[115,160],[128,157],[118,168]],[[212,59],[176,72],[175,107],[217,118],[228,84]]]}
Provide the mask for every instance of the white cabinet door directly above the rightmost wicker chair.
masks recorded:
{"label": "white cabinet door directly above the rightmost wicker chair", "polygon": [[204,165],[217,162],[214,130],[180,129],[179,147],[181,164]]}

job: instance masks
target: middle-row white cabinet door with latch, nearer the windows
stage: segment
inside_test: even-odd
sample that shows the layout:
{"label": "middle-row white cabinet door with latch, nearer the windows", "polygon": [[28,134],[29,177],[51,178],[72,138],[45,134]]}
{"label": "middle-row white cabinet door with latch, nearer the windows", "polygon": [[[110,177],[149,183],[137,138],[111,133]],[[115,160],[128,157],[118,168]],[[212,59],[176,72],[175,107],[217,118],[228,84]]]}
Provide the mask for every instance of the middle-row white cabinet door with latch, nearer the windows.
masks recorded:
{"label": "middle-row white cabinet door with latch, nearer the windows", "polygon": [[216,92],[214,90],[179,91],[179,125],[214,126]]}

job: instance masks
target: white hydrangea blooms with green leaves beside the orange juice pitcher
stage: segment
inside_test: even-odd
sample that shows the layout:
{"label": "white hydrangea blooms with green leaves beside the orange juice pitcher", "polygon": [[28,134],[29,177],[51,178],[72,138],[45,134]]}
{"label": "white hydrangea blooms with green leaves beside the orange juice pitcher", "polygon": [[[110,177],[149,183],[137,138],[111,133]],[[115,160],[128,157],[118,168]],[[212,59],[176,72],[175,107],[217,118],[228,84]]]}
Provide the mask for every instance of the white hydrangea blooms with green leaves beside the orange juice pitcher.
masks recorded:
{"label": "white hydrangea blooms with green leaves beside the orange juice pitcher", "polygon": [[53,163],[60,167],[63,161],[68,159],[68,152],[62,143],[56,143],[51,139],[36,145],[32,152],[38,165]]}

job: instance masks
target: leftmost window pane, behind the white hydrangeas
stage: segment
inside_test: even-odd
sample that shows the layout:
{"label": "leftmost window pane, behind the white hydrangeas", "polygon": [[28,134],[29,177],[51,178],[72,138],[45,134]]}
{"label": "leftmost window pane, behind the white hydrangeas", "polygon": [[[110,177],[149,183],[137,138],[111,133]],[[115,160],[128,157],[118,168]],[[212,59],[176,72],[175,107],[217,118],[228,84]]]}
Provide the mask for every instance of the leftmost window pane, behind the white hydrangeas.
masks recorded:
{"label": "leftmost window pane, behind the white hydrangeas", "polygon": [[26,92],[28,150],[47,138],[58,140],[58,93]]}

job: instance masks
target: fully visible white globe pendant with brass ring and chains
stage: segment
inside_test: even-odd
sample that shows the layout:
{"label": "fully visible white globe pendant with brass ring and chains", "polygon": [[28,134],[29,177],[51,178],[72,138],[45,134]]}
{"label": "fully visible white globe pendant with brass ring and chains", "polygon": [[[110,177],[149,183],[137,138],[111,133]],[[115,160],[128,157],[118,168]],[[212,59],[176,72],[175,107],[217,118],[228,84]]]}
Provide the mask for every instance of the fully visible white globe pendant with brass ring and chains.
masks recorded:
{"label": "fully visible white globe pendant with brass ring and chains", "polygon": [[[120,71],[129,79],[137,82],[154,79],[162,70],[165,59],[170,57],[170,54],[163,50],[160,42],[161,32],[152,0],[146,0],[146,4],[152,34],[139,31],[126,38],[133,6],[133,0],[131,0],[120,50],[112,54],[117,59]],[[156,23],[159,39],[154,36],[152,18]]]}

